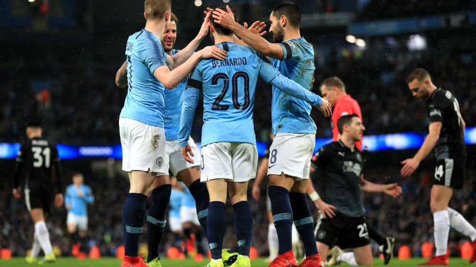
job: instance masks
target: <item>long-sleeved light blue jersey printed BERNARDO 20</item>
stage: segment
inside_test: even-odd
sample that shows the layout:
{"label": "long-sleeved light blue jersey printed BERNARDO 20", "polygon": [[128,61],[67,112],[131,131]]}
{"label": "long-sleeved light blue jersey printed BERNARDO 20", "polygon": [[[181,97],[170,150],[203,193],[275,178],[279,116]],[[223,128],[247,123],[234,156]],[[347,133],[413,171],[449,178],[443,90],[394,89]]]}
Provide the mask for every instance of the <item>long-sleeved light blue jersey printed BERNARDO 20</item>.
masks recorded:
{"label": "long-sleeved light blue jersey printed BERNARDO 20", "polygon": [[253,108],[258,77],[317,107],[322,99],[286,79],[253,49],[231,42],[218,44],[228,53],[224,60],[201,60],[185,90],[180,119],[179,146],[188,144],[200,90],[203,93],[201,145],[214,142],[256,144]]}

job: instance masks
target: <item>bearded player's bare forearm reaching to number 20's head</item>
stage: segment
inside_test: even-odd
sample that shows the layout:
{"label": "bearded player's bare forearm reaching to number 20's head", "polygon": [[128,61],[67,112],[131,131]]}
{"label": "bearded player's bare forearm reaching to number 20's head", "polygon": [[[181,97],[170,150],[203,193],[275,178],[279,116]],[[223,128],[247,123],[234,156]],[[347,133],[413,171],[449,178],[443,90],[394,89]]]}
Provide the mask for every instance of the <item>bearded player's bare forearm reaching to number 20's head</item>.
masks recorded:
{"label": "bearded player's bare forearm reaching to number 20's head", "polygon": [[215,22],[221,26],[232,30],[235,35],[257,52],[279,60],[283,59],[284,52],[279,44],[270,43],[265,38],[248,31],[248,29],[235,21],[228,5],[226,9],[227,11],[219,8],[215,9],[211,19],[215,19]]}

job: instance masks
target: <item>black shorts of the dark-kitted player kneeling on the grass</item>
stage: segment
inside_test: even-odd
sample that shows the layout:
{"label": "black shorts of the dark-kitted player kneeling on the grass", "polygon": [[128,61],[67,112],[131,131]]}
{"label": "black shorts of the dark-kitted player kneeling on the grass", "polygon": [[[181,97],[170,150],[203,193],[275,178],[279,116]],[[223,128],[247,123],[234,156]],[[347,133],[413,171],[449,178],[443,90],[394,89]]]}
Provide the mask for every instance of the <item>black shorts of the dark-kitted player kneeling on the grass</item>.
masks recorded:
{"label": "black shorts of the dark-kitted player kneeling on the grass", "polygon": [[322,219],[316,231],[316,241],[329,246],[337,245],[341,249],[358,248],[370,244],[369,231],[363,217],[347,217],[336,214],[332,219]]}

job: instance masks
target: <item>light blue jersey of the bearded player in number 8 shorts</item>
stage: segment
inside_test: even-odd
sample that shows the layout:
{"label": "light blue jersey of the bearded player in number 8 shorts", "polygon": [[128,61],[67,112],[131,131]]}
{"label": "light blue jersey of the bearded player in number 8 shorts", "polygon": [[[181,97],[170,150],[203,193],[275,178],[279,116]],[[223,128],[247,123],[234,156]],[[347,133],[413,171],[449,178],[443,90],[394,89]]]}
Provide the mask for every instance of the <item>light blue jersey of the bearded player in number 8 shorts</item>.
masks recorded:
{"label": "light blue jersey of the bearded player in number 8 shorts", "polygon": [[[311,90],[316,70],[312,45],[304,37],[289,39],[279,45],[284,52],[283,60],[273,59],[273,66],[284,76]],[[278,132],[315,134],[317,127],[310,114],[311,105],[273,87],[273,135]]]}

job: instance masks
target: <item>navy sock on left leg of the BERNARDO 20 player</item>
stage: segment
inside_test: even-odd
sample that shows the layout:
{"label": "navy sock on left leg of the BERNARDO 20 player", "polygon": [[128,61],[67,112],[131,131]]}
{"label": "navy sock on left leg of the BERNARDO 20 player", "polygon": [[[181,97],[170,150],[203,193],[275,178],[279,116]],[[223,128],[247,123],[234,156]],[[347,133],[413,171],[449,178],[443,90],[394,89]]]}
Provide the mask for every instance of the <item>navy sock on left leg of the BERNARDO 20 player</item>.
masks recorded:
{"label": "navy sock on left leg of the BERNARDO 20 player", "polygon": [[207,237],[210,253],[214,260],[221,259],[221,249],[223,248],[223,237],[225,236],[226,227],[225,208],[225,203],[220,201],[212,201],[208,206]]}

